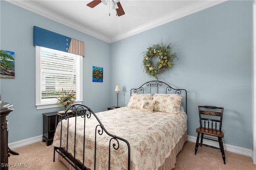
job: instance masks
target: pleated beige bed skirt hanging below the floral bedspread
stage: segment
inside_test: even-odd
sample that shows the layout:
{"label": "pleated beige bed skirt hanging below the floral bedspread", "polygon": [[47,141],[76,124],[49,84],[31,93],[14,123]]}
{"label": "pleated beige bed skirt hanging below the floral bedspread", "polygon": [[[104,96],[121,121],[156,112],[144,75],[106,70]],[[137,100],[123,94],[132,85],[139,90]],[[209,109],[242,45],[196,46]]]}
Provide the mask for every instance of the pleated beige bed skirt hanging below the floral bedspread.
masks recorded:
{"label": "pleated beige bed skirt hanging below the floral bedspread", "polygon": [[[176,156],[178,153],[182,150],[184,143],[188,140],[188,133],[187,131],[184,133],[184,135],[180,138],[180,141],[176,144],[174,149],[171,151],[171,154],[168,158],[165,159],[164,164],[158,168],[158,170],[171,170],[175,168],[176,164]],[[58,158],[61,162],[64,163],[64,165],[69,170],[76,170],[72,165],[70,165],[62,156],[58,154]],[[69,159],[68,159],[69,160]]]}

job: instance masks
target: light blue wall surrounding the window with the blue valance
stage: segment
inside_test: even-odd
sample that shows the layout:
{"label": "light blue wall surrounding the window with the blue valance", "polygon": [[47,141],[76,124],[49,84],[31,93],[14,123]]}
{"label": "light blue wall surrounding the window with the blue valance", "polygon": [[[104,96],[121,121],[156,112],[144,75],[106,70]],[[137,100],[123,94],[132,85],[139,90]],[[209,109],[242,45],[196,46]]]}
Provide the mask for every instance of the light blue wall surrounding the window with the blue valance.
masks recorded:
{"label": "light blue wall surrounding the window with the blue valance", "polygon": [[[2,100],[13,104],[8,115],[9,143],[43,134],[42,113],[59,111],[60,108],[36,110],[35,47],[33,26],[85,42],[83,57],[83,104],[93,111],[103,111],[111,106],[110,44],[6,1],[1,3],[1,50],[15,52],[15,78],[1,78]],[[100,48],[99,48],[100,47]],[[103,83],[92,82],[92,66],[104,68]]]}

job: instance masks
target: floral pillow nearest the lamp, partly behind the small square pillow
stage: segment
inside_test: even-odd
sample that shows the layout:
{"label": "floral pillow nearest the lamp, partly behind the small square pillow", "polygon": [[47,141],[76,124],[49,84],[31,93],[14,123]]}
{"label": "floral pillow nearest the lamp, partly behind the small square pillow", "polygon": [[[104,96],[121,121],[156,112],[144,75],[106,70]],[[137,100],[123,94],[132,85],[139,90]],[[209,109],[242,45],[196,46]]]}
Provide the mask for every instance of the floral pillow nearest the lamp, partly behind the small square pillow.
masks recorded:
{"label": "floral pillow nearest the lamp, partly behind the small square pillow", "polygon": [[152,100],[153,96],[150,94],[132,94],[127,107],[140,109],[143,100]]}

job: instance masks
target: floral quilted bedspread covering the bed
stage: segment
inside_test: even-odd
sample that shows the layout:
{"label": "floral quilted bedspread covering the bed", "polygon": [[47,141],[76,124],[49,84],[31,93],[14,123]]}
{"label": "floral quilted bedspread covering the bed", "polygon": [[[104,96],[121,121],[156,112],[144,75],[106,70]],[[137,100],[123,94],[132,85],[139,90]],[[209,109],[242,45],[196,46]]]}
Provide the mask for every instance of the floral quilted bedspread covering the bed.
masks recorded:
{"label": "floral quilted bedspread covering the bed", "polygon": [[[105,129],[118,137],[126,139],[131,149],[131,169],[151,170],[161,166],[170,156],[171,150],[187,130],[187,116],[184,113],[172,114],[162,112],[143,112],[139,109],[120,107],[96,113]],[[69,119],[68,152],[74,156],[75,117]],[[85,158],[87,168],[94,169],[95,127],[98,121],[94,116],[86,117]],[[67,121],[62,122],[62,146],[66,148]],[[65,130],[64,130],[65,129]],[[100,128],[98,128],[100,129]],[[97,129],[97,131],[98,131]],[[83,159],[84,118],[77,117],[76,125],[76,159]],[[96,169],[108,169],[108,149],[111,137],[103,133],[96,139]],[[112,140],[114,143],[114,140]],[[53,145],[60,147],[60,123],[56,128]],[[112,144],[111,144],[112,146]],[[111,147],[111,169],[127,169],[128,149],[120,141],[120,148]]]}

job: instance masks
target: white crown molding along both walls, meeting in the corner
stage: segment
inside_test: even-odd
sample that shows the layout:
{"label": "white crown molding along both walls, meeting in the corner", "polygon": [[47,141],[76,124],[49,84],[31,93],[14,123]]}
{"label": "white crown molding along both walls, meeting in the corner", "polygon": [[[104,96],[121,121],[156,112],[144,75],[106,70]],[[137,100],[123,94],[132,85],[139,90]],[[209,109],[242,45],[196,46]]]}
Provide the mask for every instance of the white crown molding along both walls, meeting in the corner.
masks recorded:
{"label": "white crown molding along both walls, meeting in the corner", "polygon": [[126,31],[124,33],[115,35],[114,37],[107,37],[105,35],[102,35],[101,33],[98,33],[88,27],[84,27],[72,20],[69,20],[67,18],[64,18],[63,16],[60,16],[46,8],[42,8],[41,6],[38,6],[37,4],[34,4],[33,2],[30,2],[28,0],[6,0],[7,2],[10,2],[16,6],[20,6],[21,8],[24,8],[26,10],[29,10],[31,12],[34,12],[36,14],[39,14],[41,16],[44,16],[46,18],[49,18],[50,20],[56,21],[58,23],[62,23],[63,25],[66,25],[68,27],[71,27],[73,29],[76,29],[78,31],[81,31],[83,33],[86,33],[88,35],[91,35],[92,37],[95,37],[97,39],[100,39],[102,41],[106,41],[107,43],[113,43],[115,41],[119,41],[121,39],[130,37],[132,35],[136,35],[138,33],[141,33],[143,31],[152,29],[154,27],[158,27],[160,25],[163,25],[165,23],[168,23],[170,21],[177,20],[179,18],[182,18],[184,16],[188,16],[190,14],[199,12],[201,10],[204,10],[206,8],[210,8],[212,6],[215,6],[217,4],[220,4],[222,2],[225,2],[227,0],[200,0],[194,4],[191,4],[190,6],[186,6],[182,8],[181,10],[177,10],[175,12],[172,12],[170,14],[167,14],[163,17],[160,17],[156,20],[150,21],[148,23],[142,24],[134,29],[131,29],[130,31]]}

